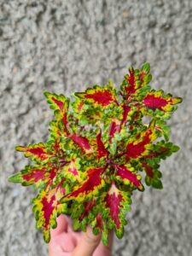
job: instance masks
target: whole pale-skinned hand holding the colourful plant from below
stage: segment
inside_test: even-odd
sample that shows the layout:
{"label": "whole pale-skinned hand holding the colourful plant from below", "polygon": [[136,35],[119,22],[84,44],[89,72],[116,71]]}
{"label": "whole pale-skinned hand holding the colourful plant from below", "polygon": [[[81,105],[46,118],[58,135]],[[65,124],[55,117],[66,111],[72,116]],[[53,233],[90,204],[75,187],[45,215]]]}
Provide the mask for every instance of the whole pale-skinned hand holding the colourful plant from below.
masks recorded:
{"label": "whole pale-skinned hand holding the colourful plant from below", "polygon": [[108,247],[101,241],[101,234],[95,236],[88,226],[86,232],[75,232],[72,221],[65,215],[57,218],[57,228],[51,230],[49,256],[111,256],[113,232],[109,232]]}

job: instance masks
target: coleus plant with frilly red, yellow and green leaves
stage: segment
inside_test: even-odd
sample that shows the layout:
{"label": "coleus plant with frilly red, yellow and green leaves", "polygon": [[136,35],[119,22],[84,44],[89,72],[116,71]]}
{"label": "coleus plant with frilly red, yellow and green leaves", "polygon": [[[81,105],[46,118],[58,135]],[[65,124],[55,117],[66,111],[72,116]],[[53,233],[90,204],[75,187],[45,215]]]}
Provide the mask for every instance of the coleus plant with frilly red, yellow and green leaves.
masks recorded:
{"label": "coleus plant with frilly red, yellow and green leaves", "polygon": [[49,138],[16,147],[32,164],[9,177],[38,189],[32,204],[44,241],[49,242],[56,217],[67,213],[75,230],[90,225],[95,235],[102,232],[107,245],[108,230],[123,236],[131,195],[144,190],[142,179],[162,189],[160,160],[179,149],[169,142],[166,120],[182,99],[151,90],[149,70],[148,63],[141,70],[131,67],[120,90],[109,81],[72,99],[44,92],[55,114]]}

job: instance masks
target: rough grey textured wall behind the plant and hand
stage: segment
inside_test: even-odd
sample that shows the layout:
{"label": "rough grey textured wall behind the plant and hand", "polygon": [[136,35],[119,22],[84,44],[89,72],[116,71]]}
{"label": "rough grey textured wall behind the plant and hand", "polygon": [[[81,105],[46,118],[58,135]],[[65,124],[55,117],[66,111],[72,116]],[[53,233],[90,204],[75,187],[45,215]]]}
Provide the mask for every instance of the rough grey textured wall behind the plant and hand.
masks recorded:
{"label": "rough grey textured wall behind the plant and hand", "polygon": [[45,141],[52,117],[44,90],[69,94],[122,80],[149,61],[152,85],[183,96],[163,162],[163,190],[133,198],[114,255],[189,256],[192,242],[192,1],[0,0],[0,255],[47,255],[32,216],[33,191],[7,182],[27,160],[15,145]]}

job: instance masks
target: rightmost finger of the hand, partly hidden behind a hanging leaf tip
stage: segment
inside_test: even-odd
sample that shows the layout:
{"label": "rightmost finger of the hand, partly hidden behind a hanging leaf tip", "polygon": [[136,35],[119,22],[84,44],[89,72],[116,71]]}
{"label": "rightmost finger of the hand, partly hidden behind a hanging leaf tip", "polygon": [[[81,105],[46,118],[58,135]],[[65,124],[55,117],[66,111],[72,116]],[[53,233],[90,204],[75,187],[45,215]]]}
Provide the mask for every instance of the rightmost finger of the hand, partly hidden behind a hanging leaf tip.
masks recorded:
{"label": "rightmost finger of the hand, partly hidden behind a hanging leaf tip", "polygon": [[112,254],[113,248],[113,230],[108,230],[108,246],[104,246],[102,241],[100,241],[98,247],[96,247],[93,256],[110,256]]}

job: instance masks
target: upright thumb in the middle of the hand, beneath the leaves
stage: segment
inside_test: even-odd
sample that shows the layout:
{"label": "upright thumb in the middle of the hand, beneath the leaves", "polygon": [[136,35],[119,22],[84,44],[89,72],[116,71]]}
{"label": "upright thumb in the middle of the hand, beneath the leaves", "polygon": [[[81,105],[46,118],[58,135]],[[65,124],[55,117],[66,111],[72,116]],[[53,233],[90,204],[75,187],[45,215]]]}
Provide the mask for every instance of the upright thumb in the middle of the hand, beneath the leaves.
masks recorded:
{"label": "upright thumb in the middle of the hand, beneath the leaves", "polygon": [[90,226],[87,226],[87,230],[83,233],[81,241],[74,249],[72,256],[91,256],[101,241],[101,234],[95,236],[92,233]]}

